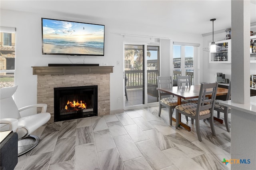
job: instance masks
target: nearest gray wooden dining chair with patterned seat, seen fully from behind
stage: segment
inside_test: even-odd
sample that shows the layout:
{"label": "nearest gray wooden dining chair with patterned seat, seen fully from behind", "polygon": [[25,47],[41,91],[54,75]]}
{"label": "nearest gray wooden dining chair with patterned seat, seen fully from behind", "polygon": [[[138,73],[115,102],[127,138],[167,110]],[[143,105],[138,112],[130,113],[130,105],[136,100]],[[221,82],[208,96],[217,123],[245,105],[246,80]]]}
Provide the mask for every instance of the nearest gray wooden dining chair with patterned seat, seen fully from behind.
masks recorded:
{"label": "nearest gray wooden dining chair with patterned seat, seen fully from behind", "polygon": [[[200,125],[199,121],[202,119],[209,119],[212,134],[215,136],[214,123],[213,123],[213,109],[214,102],[216,98],[216,92],[218,88],[218,83],[203,83],[200,86],[200,93],[198,97],[198,103],[186,103],[178,105],[176,109],[176,122],[180,122],[179,114],[183,114],[191,118],[191,123],[194,124],[196,121],[196,133],[198,140],[202,141],[200,134]],[[211,95],[211,98],[208,99],[208,95]],[[176,123],[176,128],[178,128],[178,123]]]}

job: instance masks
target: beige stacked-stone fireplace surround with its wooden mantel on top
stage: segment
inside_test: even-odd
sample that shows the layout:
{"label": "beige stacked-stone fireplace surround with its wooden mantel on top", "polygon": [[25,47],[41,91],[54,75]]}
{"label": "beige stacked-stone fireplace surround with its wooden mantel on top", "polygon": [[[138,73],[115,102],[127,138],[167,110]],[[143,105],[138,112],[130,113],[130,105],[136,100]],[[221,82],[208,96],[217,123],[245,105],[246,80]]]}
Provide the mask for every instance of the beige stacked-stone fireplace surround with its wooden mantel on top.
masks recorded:
{"label": "beige stacked-stone fireplace surround with its wooden mantel on top", "polygon": [[46,103],[54,122],[54,87],[98,86],[98,116],[110,114],[110,73],[113,66],[33,67],[37,103]]}

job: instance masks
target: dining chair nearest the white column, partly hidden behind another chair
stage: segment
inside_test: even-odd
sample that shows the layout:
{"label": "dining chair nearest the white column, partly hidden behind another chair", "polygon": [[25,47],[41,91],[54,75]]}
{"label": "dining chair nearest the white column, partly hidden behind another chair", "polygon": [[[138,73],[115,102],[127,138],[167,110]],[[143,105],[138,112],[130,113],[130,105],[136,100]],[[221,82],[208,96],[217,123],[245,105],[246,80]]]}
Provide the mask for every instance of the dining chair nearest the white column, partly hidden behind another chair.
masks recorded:
{"label": "dining chair nearest the white column, partly hidden behind another chair", "polygon": [[[227,94],[226,100],[230,100],[230,99],[231,99],[231,81],[229,83],[228,94]],[[218,118],[220,118],[220,112],[224,113],[224,121],[225,121],[226,129],[228,132],[230,132],[230,127],[228,125],[228,113],[231,113],[231,108],[220,105],[219,104],[220,101],[222,101],[222,100],[215,100],[214,110],[217,111]]]}

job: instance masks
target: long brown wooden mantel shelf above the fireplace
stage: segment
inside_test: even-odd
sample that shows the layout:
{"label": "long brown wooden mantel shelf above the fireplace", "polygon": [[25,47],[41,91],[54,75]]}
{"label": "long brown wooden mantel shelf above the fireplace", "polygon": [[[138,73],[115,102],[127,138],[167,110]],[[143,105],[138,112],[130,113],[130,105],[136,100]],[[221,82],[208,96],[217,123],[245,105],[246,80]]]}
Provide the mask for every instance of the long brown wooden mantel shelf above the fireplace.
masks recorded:
{"label": "long brown wooden mantel shelf above the fireplace", "polygon": [[114,66],[46,66],[32,67],[33,75],[113,73]]}

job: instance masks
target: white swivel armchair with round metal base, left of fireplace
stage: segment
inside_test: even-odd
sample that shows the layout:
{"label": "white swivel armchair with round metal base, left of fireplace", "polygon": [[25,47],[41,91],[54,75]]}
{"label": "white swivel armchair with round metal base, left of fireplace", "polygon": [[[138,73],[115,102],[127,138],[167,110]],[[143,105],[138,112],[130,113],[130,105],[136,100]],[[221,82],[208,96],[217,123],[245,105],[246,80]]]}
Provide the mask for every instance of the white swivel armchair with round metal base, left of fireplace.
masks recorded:
{"label": "white swivel armchair with round metal base, left of fireplace", "polygon": [[[0,131],[12,130],[18,133],[18,156],[30,151],[38,142],[38,136],[31,135],[34,130],[41,127],[50,120],[50,113],[46,112],[46,104],[29,105],[18,109],[12,95],[18,86],[3,87],[0,89]],[[21,111],[41,107],[41,113],[22,116]],[[24,138],[30,142],[21,142]]]}

